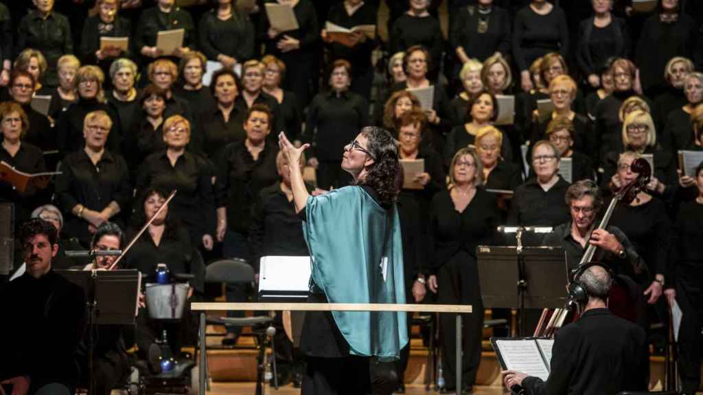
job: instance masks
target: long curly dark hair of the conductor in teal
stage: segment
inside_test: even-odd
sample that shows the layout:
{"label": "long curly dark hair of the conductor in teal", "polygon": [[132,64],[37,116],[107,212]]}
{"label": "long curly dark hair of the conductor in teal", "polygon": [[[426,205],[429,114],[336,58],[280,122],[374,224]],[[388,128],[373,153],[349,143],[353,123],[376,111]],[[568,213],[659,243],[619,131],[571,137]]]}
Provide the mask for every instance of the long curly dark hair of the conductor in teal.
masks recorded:
{"label": "long curly dark hair of the conductor in teal", "polygon": [[375,160],[366,169],[366,177],[359,184],[375,189],[381,205],[390,205],[398,200],[403,174],[398,159],[398,143],[389,131],[380,127],[365,127],[361,129],[361,134],[368,139],[367,149]]}

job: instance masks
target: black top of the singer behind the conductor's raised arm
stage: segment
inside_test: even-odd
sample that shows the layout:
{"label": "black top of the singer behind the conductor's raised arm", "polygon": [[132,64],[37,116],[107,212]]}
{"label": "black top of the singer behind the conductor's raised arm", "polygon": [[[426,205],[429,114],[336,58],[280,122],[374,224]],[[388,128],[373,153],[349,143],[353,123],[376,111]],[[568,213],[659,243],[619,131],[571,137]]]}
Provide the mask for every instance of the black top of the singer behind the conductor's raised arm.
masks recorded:
{"label": "black top of the singer behind the conductor's raised arm", "polygon": [[[309,193],[313,190],[307,186]],[[254,272],[259,272],[259,259],[267,256],[304,257],[309,254],[303,238],[302,221],[295,214],[280,182],[259,190],[252,205],[249,245]]]}

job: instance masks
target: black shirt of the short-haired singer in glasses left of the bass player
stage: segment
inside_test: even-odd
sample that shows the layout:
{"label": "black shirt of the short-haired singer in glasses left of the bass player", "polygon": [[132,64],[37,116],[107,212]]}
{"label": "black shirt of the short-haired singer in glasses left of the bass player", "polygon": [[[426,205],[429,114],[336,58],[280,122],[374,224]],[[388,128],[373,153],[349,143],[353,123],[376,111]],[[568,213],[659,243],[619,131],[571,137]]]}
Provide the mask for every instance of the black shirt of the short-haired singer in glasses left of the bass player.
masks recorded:
{"label": "black shirt of the short-haired singer in glasses left of the bass player", "polygon": [[510,202],[508,224],[525,226],[557,226],[569,220],[569,207],[564,195],[569,183],[559,181],[545,191],[536,179],[526,181],[515,190]]}

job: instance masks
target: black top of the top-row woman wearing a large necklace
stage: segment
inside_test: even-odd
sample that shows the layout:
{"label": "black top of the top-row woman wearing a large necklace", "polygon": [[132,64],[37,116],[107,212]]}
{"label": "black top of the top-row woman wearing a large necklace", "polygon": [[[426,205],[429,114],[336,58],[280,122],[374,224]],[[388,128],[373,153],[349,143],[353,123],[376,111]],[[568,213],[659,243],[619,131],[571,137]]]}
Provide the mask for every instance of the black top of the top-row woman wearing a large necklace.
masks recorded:
{"label": "black top of the top-row woman wearing a large necklace", "polygon": [[483,62],[496,52],[510,56],[512,39],[510,14],[503,8],[491,6],[484,12],[476,5],[459,9],[450,34],[452,48],[464,48],[469,58]]}

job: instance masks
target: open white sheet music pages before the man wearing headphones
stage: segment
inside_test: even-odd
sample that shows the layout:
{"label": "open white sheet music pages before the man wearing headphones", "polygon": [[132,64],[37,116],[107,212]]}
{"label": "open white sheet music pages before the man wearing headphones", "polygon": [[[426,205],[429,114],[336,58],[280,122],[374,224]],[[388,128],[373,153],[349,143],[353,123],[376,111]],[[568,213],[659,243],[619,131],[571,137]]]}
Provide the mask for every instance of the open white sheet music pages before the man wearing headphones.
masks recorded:
{"label": "open white sheet music pages before the man wearing headphones", "polygon": [[491,337],[503,370],[515,370],[546,381],[549,377],[554,339],[535,337]]}

